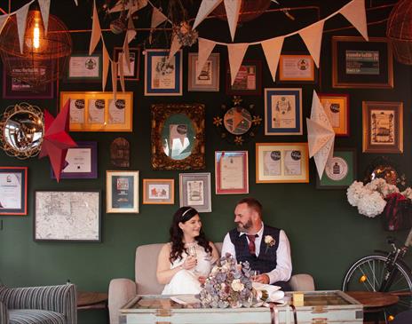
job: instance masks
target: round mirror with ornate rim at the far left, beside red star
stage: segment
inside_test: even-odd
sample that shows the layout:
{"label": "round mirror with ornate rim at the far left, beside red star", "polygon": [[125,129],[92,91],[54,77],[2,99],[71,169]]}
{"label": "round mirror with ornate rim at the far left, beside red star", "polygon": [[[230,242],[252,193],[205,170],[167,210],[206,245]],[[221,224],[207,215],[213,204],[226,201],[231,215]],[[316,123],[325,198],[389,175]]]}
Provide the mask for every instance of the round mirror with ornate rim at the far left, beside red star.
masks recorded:
{"label": "round mirror with ornate rim at the far left, beside red star", "polygon": [[7,107],[0,123],[1,142],[6,154],[27,159],[40,152],[43,135],[43,113],[39,107],[20,103]]}

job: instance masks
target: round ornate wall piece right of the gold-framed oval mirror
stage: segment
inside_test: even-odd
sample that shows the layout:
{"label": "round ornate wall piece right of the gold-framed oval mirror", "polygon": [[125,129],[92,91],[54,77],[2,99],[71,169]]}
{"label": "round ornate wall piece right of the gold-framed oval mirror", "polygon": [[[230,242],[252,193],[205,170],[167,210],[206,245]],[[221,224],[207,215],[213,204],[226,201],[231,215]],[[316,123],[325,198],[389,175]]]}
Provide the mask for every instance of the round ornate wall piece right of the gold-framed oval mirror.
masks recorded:
{"label": "round ornate wall piece right of the gold-framed oval mirror", "polygon": [[218,128],[221,138],[229,143],[242,146],[250,138],[255,137],[262,122],[259,115],[255,115],[255,105],[243,105],[240,96],[234,96],[233,104],[221,106],[221,114],[213,118],[213,124]]}

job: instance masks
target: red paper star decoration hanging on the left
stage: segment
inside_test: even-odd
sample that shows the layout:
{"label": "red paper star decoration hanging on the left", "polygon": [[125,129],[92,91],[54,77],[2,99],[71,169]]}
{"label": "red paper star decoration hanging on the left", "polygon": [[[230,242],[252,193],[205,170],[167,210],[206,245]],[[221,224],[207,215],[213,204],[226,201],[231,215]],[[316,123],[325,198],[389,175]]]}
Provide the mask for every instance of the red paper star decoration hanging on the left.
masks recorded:
{"label": "red paper star decoration hanging on the left", "polygon": [[77,146],[67,133],[69,108],[70,99],[67,100],[56,119],[47,110],[44,110],[45,132],[39,158],[49,155],[57,182],[60,181],[61,170],[65,166],[67,148]]}

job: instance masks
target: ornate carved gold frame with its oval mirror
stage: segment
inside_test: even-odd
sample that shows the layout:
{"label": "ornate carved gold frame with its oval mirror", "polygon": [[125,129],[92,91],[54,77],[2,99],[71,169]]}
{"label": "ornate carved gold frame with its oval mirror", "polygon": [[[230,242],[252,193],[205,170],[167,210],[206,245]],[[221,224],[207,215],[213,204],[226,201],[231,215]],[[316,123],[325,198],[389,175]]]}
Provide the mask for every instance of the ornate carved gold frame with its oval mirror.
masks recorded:
{"label": "ornate carved gold frame with its oval mirror", "polygon": [[204,115],[202,104],[152,105],[154,170],[202,170],[206,167]]}

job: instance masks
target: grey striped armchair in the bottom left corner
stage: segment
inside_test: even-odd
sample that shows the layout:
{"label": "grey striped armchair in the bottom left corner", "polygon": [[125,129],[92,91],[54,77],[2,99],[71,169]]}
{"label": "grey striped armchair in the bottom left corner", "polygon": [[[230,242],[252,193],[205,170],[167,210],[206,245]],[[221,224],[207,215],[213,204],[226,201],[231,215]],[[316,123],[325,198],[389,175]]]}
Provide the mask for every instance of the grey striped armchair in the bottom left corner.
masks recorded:
{"label": "grey striped armchair in the bottom left corner", "polygon": [[0,286],[0,324],[77,324],[75,285]]}

